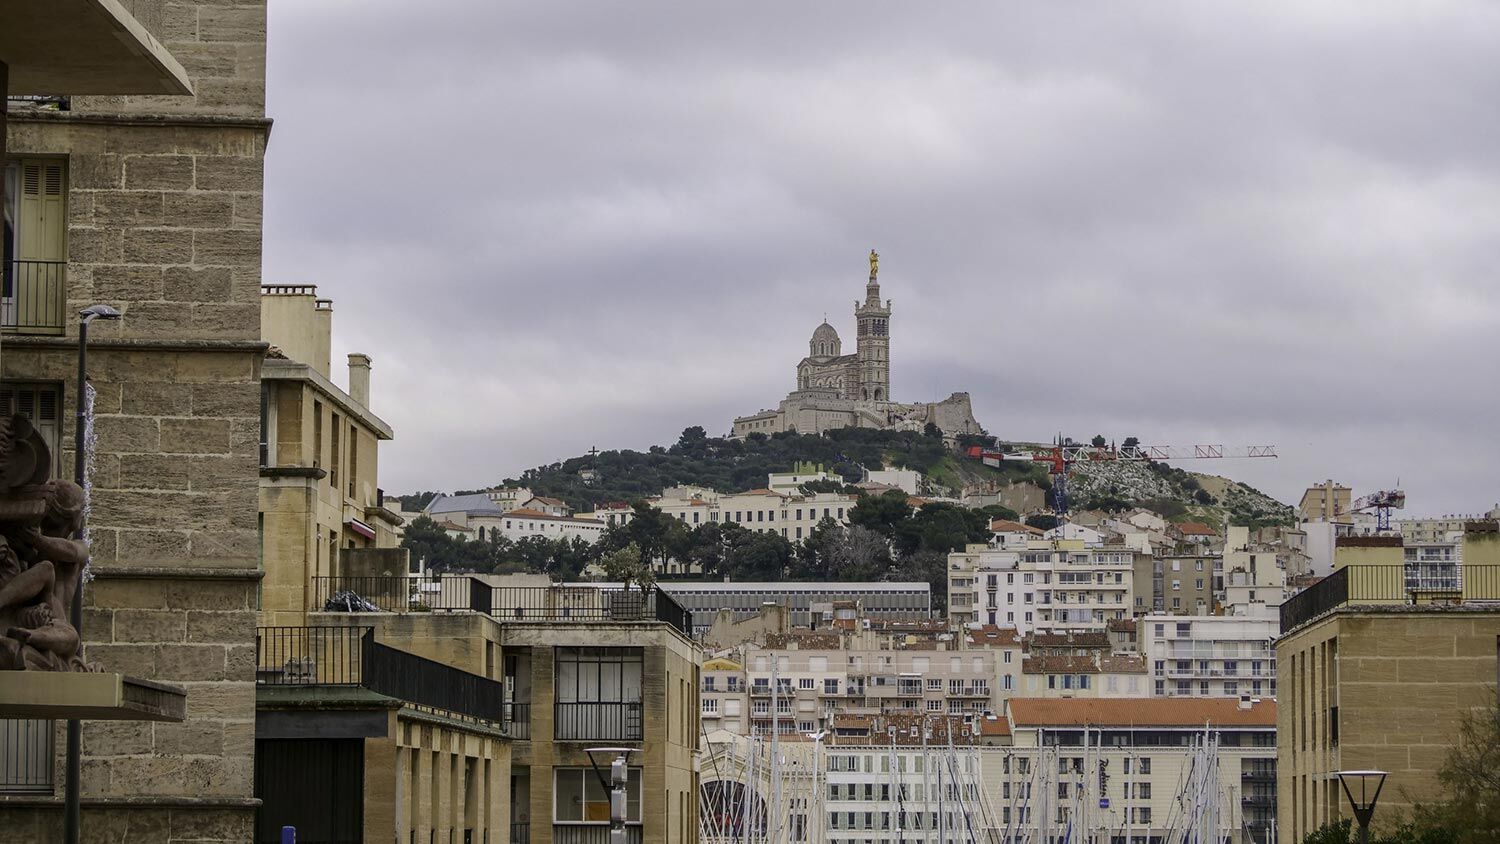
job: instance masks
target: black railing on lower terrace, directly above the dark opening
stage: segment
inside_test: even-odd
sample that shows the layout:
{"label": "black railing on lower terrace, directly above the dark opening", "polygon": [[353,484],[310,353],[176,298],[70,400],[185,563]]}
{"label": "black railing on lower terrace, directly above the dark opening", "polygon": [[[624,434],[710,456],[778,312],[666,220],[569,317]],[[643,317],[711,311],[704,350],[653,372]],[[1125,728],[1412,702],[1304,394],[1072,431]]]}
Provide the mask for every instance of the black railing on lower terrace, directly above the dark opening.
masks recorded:
{"label": "black railing on lower terrace, directly above the dark opening", "polygon": [[351,685],[417,706],[504,723],[504,684],[375,642],[369,627],[261,627],[258,685]]}

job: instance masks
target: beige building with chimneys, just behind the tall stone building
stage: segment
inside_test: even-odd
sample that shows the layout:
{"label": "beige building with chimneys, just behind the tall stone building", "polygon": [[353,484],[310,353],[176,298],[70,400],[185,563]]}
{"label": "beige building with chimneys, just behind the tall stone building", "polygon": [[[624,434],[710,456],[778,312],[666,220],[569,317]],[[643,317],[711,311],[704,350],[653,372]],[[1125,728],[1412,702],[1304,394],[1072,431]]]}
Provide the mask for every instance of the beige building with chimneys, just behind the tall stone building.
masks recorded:
{"label": "beige building with chimneys, just behind the tall stone building", "polygon": [[302,625],[340,576],[405,576],[402,525],[380,489],[390,426],[370,411],[370,358],[332,381],[333,301],[312,285],[261,288],[261,621]]}

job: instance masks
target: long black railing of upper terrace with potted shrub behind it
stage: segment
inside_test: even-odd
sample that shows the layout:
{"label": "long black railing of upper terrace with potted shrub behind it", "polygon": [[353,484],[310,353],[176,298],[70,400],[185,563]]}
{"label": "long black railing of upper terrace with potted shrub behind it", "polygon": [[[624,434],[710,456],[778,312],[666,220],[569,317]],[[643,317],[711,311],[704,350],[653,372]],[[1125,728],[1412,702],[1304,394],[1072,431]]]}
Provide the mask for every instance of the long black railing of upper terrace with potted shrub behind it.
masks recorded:
{"label": "long black railing of upper terrace with potted shrub behind it", "polygon": [[324,612],[477,612],[501,621],[660,621],[684,636],[693,618],[672,595],[600,586],[490,586],[478,577],[314,577]]}

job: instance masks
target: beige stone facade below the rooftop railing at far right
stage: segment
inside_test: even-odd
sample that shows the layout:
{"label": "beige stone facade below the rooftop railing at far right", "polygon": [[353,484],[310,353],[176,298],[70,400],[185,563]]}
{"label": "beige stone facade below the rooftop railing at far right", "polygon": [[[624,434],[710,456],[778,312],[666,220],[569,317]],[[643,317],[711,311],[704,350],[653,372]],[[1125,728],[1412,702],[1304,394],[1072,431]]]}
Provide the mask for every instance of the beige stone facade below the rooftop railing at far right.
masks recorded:
{"label": "beige stone facade below the rooftop railing at far right", "polygon": [[1464,715],[1494,702],[1500,609],[1346,606],[1276,642],[1278,826],[1352,817],[1335,771],[1388,771],[1374,825],[1437,799]]}

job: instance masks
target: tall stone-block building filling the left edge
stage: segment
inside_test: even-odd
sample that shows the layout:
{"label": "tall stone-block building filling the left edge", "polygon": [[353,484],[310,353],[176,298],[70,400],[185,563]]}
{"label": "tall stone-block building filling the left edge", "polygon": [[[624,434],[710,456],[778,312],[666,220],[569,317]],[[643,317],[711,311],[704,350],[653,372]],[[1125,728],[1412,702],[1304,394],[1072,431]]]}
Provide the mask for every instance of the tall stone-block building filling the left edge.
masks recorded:
{"label": "tall stone-block building filling the left edge", "polygon": [[[96,60],[140,39],[138,55],[156,72],[180,63],[192,93],[10,109],[0,411],[36,420],[57,445],[54,477],[66,477],[76,313],[94,303],[122,313],[90,336],[94,580],[82,636],[88,660],[180,685],[189,703],[182,724],[84,724],[82,823],[243,841],[255,805],[266,9],[94,6],[76,13],[105,18],[66,31],[84,37],[100,19],[122,21],[92,48]],[[0,39],[8,51],[14,22]],[[27,93],[110,91],[108,81]],[[62,835],[54,771],[39,793],[0,802],[6,837]]]}

